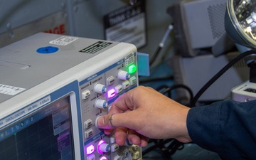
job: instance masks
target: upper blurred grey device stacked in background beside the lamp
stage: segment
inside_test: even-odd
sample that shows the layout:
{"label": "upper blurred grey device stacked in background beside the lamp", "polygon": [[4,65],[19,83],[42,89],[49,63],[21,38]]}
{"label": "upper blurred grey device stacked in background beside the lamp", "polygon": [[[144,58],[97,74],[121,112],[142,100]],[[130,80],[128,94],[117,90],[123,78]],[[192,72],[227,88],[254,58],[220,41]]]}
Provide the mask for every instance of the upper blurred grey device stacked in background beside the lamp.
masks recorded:
{"label": "upper blurred grey device stacked in background beside the lamp", "polygon": [[225,32],[226,0],[182,0],[167,9],[174,23],[176,50],[183,57],[220,55],[233,48]]}

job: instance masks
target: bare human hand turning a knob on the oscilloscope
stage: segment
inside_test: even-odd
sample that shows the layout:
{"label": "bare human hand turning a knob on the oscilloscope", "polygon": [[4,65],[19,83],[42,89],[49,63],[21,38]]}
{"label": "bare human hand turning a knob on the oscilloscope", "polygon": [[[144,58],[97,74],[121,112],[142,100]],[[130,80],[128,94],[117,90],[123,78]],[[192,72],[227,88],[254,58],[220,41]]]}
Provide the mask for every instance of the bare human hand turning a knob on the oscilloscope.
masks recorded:
{"label": "bare human hand turning a knob on the oscilloscope", "polygon": [[186,127],[188,110],[151,87],[139,86],[113,102],[109,114],[96,123],[105,134],[114,130],[119,145],[128,139],[132,144],[146,146],[149,138],[191,142]]}

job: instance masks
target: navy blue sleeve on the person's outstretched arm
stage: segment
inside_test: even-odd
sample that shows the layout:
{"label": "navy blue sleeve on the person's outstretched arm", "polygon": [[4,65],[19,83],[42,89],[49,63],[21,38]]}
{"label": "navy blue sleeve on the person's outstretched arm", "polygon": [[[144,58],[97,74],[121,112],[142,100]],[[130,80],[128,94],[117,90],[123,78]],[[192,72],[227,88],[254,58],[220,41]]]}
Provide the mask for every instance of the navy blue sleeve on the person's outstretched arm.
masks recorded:
{"label": "navy blue sleeve on the person's outstretched arm", "polygon": [[223,159],[256,159],[256,100],[193,107],[187,127],[194,143]]}

